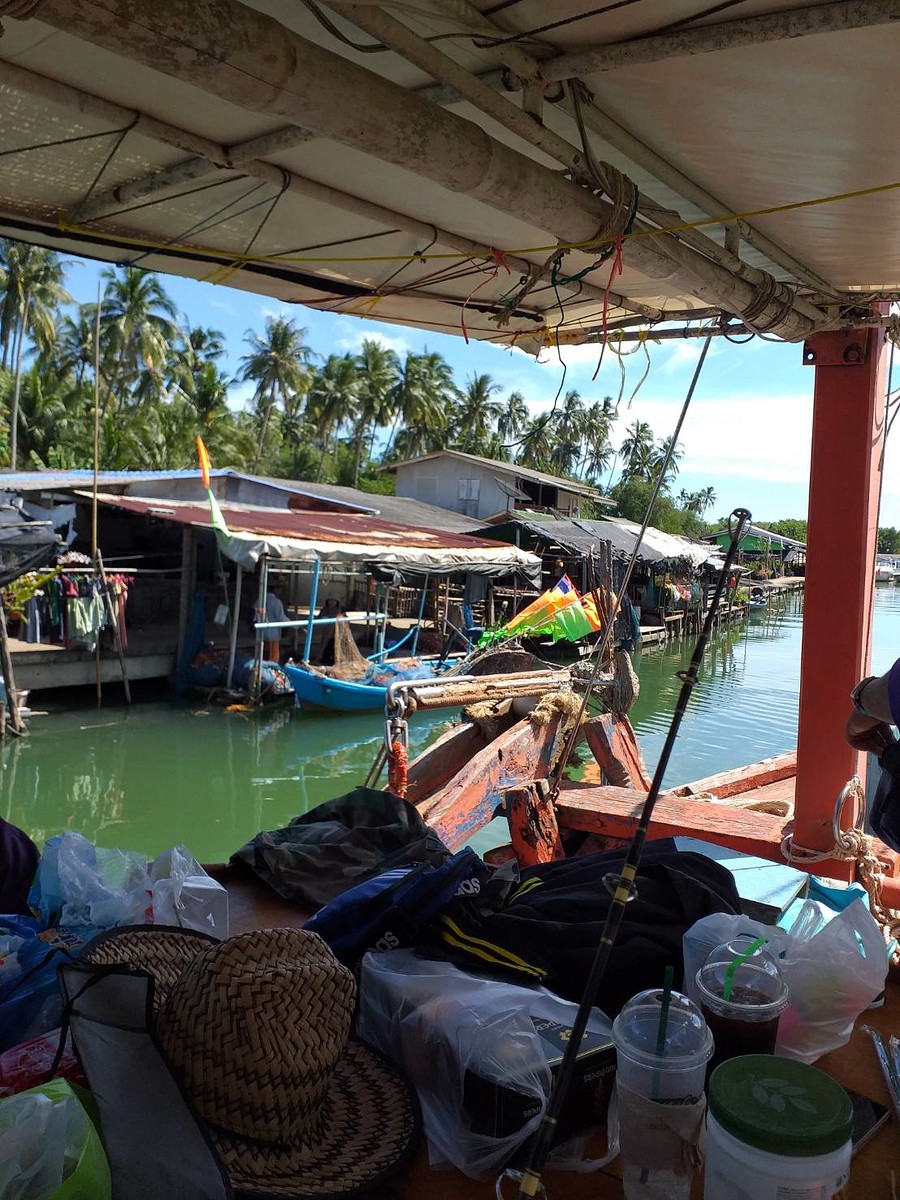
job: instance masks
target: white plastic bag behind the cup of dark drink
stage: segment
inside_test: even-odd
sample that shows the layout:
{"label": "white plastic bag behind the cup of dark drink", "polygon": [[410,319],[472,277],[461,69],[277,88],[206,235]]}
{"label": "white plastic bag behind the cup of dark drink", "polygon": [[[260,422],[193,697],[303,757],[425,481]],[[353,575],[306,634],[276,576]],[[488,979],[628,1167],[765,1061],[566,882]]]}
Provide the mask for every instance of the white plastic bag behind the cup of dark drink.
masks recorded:
{"label": "white plastic bag behind the cup of dark drink", "polygon": [[764,937],[791,1000],[778,1027],[776,1054],[812,1063],[850,1040],[853,1022],[884,988],[887,946],[863,900],[823,922],[808,900],[788,932],[743,916],[713,913],[684,935],[684,989],[697,1000],[695,977],[710,950],[740,934]]}

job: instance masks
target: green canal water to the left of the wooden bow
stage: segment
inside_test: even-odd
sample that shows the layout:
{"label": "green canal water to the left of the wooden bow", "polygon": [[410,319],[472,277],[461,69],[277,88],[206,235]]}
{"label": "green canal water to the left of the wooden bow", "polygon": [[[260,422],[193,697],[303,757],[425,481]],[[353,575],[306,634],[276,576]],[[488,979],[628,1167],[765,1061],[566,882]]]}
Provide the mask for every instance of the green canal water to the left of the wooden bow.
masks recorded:
{"label": "green canal water to the left of the wooden bow", "polygon": [[[410,730],[412,752],[445,727],[446,714],[425,714]],[[146,854],[182,841],[221,860],[259,829],[362,782],[382,737],[377,713],[168,702],[58,710],[7,744],[0,812],[38,844],[68,828]]]}

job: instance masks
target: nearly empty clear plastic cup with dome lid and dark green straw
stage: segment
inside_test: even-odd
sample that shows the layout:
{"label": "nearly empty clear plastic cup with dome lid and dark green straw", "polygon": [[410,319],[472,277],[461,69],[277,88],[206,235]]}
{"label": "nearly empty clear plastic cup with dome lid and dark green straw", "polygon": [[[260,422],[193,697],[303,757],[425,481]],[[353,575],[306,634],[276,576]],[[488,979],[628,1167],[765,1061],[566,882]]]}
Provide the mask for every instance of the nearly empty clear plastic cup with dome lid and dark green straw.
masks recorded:
{"label": "nearly empty clear plastic cup with dome lid and dark green straw", "polygon": [[[688,1200],[691,1170],[683,1147],[702,1123],[703,1084],[713,1038],[700,1009],[673,991],[660,1038],[662,990],[641,992],[616,1018],[619,1142],[626,1200]],[[636,1100],[636,1103],[635,1103]],[[680,1129],[672,1118],[682,1122]]]}

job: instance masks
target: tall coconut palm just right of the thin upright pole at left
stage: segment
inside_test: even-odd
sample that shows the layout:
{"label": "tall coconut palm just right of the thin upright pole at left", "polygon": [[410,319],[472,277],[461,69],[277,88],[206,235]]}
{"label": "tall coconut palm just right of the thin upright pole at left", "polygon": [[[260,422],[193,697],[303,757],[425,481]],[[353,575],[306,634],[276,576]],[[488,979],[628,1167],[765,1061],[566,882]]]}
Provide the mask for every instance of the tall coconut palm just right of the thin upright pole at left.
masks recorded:
{"label": "tall coconut palm just right of the thin upright pole at left", "polygon": [[178,310],[158,276],[139,266],[103,271],[101,343],[110,403],[146,402],[163,395],[166,366],[178,337]]}

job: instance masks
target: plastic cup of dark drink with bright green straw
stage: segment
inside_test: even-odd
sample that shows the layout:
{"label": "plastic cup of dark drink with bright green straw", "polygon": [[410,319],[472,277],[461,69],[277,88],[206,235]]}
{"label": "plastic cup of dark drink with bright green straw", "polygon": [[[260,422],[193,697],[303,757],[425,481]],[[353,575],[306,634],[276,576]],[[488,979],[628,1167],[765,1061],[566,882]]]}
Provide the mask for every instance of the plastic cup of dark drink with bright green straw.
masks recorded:
{"label": "plastic cup of dark drink with bright green straw", "polygon": [[787,1007],[788,990],[769,964],[754,959],[739,961],[737,967],[733,961],[707,962],[697,972],[696,985],[701,1012],[715,1042],[710,1070],[739,1055],[775,1052],[778,1022]]}

